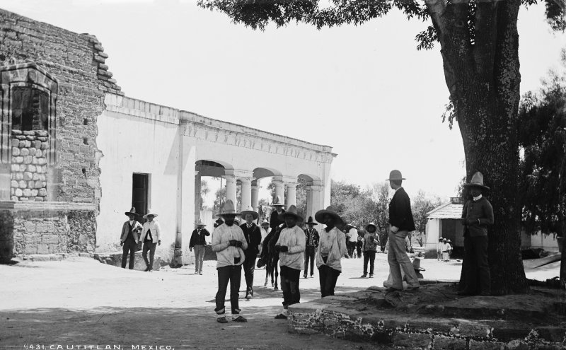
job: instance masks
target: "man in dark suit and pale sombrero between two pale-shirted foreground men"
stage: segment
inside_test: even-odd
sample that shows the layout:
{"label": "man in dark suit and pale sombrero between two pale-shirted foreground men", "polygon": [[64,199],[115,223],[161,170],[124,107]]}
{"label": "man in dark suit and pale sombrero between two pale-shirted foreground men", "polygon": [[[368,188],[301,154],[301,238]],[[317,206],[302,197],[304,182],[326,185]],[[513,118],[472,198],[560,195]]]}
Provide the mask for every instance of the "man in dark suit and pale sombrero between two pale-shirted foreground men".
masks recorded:
{"label": "man in dark suit and pale sombrero between two pale-shirted foreground men", "polygon": [[248,249],[244,251],[246,260],[243,262],[243,275],[246,278],[246,299],[250,300],[253,297],[253,272],[255,270],[255,259],[260,252],[261,244],[261,230],[258,225],[253,221],[257,220],[260,215],[253,210],[250,206],[248,209],[240,213],[246,222],[240,228],[243,231],[243,236],[248,242]]}

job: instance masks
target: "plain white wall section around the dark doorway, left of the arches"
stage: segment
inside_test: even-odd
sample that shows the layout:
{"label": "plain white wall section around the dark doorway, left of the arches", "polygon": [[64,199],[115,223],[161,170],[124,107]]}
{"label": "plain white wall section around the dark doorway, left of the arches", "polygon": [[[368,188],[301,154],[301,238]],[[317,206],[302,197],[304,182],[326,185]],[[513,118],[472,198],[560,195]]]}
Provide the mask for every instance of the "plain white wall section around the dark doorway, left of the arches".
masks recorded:
{"label": "plain white wall section around the dark doorway, left of the arches", "polygon": [[97,126],[96,142],[103,153],[97,251],[120,250],[124,212],[132,206],[132,175],[147,173],[149,209],[158,214],[162,230],[156,254],[170,261],[177,219],[178,125],[105,110]]}

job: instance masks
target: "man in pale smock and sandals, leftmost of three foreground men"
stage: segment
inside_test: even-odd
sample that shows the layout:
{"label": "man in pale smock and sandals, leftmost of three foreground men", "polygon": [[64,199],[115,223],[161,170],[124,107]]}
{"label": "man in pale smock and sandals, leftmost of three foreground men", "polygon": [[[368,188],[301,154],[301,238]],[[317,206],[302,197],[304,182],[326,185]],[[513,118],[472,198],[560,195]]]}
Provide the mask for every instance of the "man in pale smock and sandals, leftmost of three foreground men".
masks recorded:
{"label": "man in pale smock and sandals, leftmost of three foreground men", "polygon": [[216,252],[216,271],[218,272],[218,291],[216,292],[216,322],[227,323],[224,299],[226,289],[230,283],[230,305],[232,307],[232,320],[234,322],[248,322],[246,317],[240,315],[238,305],[238,291],[240,291],[240,280],[242,278],[242,263],[246,258],[244,250],[248,248],[248,242],[243,236],[240,226],[234,225],[236,208],[231,199],[224,203],[222,209],[224,223],[218,226],[212,233],[212,250]]}

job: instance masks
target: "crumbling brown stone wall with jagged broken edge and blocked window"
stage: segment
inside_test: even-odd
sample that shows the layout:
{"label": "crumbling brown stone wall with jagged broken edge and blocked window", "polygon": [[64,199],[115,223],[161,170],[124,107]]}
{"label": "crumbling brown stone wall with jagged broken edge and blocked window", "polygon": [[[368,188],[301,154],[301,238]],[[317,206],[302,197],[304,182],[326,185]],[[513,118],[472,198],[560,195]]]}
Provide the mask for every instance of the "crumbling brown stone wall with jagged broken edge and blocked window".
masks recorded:
{"label": "crumbling brown stone wall with jagged broken edge and blocked window", "polygon": [[[19,66],[35,64],[57,82],[53,132],[12,131],[6,121],[0,124],[11,151],[9,163],[0,164],[0,187],[7,189],[0,191],[0,241],[6,242],[0,259],[95,249],[102,195],[96,119],[105,109],[105,93],[123,95],[106,58],[93,35],[0,9],[0,71],[15,66],[17,74]],[[45,151],[54,157],[47,156],[47,163]],[[13,202],[42,206],[14,209]],[[73,209],[82,204],[90,205]]]}

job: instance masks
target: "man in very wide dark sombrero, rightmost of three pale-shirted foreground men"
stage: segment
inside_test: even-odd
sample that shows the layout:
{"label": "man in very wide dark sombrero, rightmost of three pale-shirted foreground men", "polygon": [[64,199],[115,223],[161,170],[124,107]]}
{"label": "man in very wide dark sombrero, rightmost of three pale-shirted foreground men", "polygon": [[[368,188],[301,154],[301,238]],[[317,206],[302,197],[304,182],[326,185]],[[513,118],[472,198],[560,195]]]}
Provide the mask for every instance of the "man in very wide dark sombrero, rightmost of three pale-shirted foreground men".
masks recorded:
{"label": "man in very wide dark sombrero, rightmost of three pale-shirted foreground men", "polygon": [[324,298],[334,295],[336,281],[342,273],[340,260],[347,253],[346,237],[336,227],[343,225],[344,221],[332,206],[317,211],[314,218],[326,226],[320,233],[320,243],[316,252],[320,295]]}

